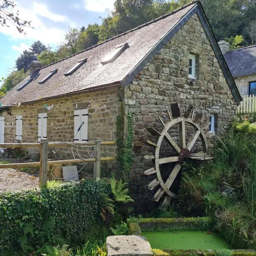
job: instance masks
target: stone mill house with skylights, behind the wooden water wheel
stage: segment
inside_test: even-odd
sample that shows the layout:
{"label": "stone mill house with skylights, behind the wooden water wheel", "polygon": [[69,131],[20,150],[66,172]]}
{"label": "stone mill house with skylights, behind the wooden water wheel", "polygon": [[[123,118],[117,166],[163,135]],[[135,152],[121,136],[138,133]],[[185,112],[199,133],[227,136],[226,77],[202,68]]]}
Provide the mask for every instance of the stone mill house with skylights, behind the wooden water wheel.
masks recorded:
{"label": "stone mill house with skylights, behind the wooden water wheel", "polygon": [[[152,178],[141,174],[152,167],[143,158],[152,152],[143,143],[152,140],[145,128],[160,131],[158,116],[169,121],[166,109],[178,102],[182,113],[194,105],[212,121],[209,130],[221,134],[241,101],[198,1],[48,66],[33,61],[31,68],[31,75],[0,99],[0,142],[116,140],[132,113],[130,191],[137,211],[155,204],[155,191],[147,189]],[[116,129],[118,116],[122,131]],[[71,157],[69,148],[59,150]],[[34,149],[29,153],[36,155]],[[113,153],[111,147],[102,150]],[[118,162],[104,168],[115,171]]]}

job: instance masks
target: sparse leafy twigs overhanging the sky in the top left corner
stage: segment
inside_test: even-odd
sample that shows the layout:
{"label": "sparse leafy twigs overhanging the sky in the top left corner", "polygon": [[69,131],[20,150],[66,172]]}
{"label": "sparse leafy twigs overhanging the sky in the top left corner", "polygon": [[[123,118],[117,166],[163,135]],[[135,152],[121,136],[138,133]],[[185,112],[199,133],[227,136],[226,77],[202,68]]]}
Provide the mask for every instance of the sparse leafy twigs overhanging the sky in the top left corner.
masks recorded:
{"label": "sparse leafy twigs overhanging the sky in the top left corner", "polygon": [[13,11],[16,4],[10,0],[0,0],[0,25],[9,27],[11,24],[16,26],[20,33],[24,32],[24,27],[31,27],[31,21],[19,18],[19,12]]}

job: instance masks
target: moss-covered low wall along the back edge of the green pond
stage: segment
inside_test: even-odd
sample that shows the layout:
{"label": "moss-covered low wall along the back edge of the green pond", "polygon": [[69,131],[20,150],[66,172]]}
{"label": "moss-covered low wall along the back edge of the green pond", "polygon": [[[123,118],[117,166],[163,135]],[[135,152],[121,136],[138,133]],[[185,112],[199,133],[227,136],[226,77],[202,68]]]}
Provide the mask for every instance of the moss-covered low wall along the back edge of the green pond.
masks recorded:
{"label": "moss-covered low wall along the back edge of the green pond", "polygon": [[139,226],[142,231],[162,230],[208,230],[212,228],[212,218],[141,218]]}

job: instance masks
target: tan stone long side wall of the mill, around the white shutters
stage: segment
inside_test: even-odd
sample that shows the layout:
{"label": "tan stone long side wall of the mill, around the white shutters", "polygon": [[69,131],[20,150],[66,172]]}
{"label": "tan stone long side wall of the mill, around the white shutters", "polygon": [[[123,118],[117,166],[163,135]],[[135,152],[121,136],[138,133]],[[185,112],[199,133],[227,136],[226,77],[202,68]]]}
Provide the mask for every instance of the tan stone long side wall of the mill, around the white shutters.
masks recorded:
{"label": "tan stone long side wall of the mill, around the white shutters", "polygon": [[[23,117],[23,140],[20,142],[35,143],[38,142],[38,113],[47,112],[47,139],[49,141],[71,142],[74,137],[74,109],[88,108],[88,140],[110,141],[116,140],[116,116],[119,111],[119,96],[117,87],[109,89],[92,90],[90,92],[76,93],[58,98],[42,100],[40,102],[21,105],[10,108],[11,115],[6,111],[0,113],[5,116],[5,143],[15,140],[17,115]],[[44,108],[47,106],[54,107],[50,111]],[[12,126],[12,123],[14,126]],[[7,126],[8,124],[8,126]],[[61,157],[72,159],[70,147],[52,148]],[[115,156],[115,146],[102,146],[102,157]],[[39,150],[27,148],[33,159],[39,159]],[[74,148],[76,151],[76,148]],[[87,151],[87,150],[86,150]],[[88,155],[83,150],[79,150],[85,158]],[[102,162],[102,175],[104,171],[116,169],[116,162]],[[88,164],[91,169],[93,164]]]}

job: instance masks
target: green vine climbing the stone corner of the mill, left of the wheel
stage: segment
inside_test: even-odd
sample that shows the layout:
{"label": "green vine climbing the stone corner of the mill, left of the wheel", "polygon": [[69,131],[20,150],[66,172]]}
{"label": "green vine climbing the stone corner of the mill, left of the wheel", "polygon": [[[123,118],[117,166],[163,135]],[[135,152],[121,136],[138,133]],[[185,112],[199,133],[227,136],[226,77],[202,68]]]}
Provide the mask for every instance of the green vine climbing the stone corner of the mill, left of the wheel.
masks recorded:
{"label": "green vine climbing the stone corner of the mill, left of the wheel", "polygon": [[[125,116],[124,110],[121,112],[121,115],[116,118],[117,160],[119,161],[122,178],[127,181],[129,179],[131,164],[133,162],[133,121],[131,113],[128,113],[128,115]],[[125,119],[127,123],[127,130],[125,129]]]}

